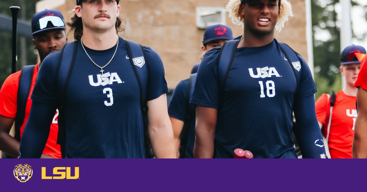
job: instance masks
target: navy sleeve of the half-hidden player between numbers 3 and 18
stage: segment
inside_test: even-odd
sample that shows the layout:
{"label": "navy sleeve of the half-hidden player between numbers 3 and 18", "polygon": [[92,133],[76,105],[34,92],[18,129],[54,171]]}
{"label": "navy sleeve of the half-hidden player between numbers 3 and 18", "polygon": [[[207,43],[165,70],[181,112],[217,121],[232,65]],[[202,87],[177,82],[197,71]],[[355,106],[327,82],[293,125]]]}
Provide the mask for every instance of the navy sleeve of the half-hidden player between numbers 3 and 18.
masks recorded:
{"label": "navy sleeve of the half-hidden player between numbers 3 and 18", "polygon": [[185,121],[186,105],[188,104],[187,92],[189,89],[188,80],[179,82],[173,91],[170,106],[168,107],[168,115],[178,120]]}

